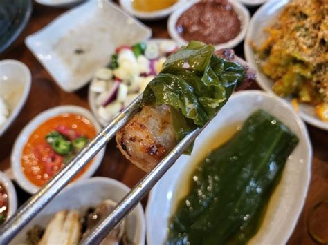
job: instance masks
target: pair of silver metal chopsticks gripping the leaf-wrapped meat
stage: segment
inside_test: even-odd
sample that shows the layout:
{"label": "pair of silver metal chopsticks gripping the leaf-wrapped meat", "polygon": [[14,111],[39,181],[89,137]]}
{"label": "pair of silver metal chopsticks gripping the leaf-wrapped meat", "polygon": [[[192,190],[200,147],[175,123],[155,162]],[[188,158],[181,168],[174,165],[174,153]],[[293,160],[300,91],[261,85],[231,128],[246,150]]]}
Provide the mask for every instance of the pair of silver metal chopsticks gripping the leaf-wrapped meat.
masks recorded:
{"label": "pair of silver metal chopsticks gripping the leaf-wrapped meat", "polygon": [[[111,123],[89,142],[78,155],[57,175],[42,187],[28,202],[17,210],[8,222],[0,227],[0,244],[8,244],[51,200],[60,193],[60,190],[69,184],[70,180],[81,170],[99,150],[118,132],[122,126],[139,110],[142,95],[134,100]],[[203,127],[204,128],[204,127]],[[134,208],[140,199],[158,182],[158,179],[167,172],[176,159],[201,133],[203,128],[197,128],[185,136],[167,156],[149,172],[134,188],[120,201],[113,212],[95,226],[80,242],[80,244],[99,244],[120,220]]]}

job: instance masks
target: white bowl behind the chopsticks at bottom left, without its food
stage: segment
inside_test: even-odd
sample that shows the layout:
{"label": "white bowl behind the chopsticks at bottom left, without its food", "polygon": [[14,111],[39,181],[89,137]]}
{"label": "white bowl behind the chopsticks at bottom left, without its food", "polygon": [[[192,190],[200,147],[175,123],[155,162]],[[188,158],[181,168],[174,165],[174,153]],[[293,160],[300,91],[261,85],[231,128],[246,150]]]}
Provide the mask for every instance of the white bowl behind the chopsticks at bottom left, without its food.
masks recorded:
{"label": "white bowl behind the chopsticks at bottom left, without its food", "polygon": [[[53,215],[60,210],[76,209],[84,212],[100,202],[111,199],[119,202],[129,193],[130,188],[115,179],[93,177],[67,186],[32,220],[10,244],[26,243],[26,233],[33,226],[46,227]],[[145,244],[145,215],[143,207],[138,204],[127,215],[127,236],[133,244]]]}

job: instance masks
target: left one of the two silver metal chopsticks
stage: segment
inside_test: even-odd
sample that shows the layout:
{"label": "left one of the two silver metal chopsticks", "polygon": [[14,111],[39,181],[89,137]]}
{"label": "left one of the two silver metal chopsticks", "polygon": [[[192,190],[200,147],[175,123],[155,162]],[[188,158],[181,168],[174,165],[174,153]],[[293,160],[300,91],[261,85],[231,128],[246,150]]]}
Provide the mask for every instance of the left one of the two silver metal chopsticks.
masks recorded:
{"label": "left one of the two silver metal chopsticks", "polygon": [[124,126],[140,108],[142,95],[139,95],[125,110],[123,110],[111,123],[78,155],[57,173],[45,186],[19,208],[15,215],[0,227],[0,244],[8,244],[19,231],[30,222],[51,200],[60,193],[66,184],[92,159]]}

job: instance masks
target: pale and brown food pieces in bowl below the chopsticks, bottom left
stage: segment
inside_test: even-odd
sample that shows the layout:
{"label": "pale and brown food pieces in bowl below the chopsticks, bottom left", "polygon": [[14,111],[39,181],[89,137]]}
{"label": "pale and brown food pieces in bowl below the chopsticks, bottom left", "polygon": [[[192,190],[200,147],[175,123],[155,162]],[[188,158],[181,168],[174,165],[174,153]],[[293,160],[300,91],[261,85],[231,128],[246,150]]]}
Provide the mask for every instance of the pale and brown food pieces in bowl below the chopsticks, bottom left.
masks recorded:
{"label": "pale and brown food pieces in bowl below the chopsticks, bottom left", "polygon": [[[55,214],[46,228],[34,226],[27,233],[29,244],[78,244],[91,229],[115,208],[116,202],[105,200],[96,208],[89,208],[84,213],[78,210],[61,210]],[[129,244],[125,219],[113,228],[102,240],[101,245]]]}

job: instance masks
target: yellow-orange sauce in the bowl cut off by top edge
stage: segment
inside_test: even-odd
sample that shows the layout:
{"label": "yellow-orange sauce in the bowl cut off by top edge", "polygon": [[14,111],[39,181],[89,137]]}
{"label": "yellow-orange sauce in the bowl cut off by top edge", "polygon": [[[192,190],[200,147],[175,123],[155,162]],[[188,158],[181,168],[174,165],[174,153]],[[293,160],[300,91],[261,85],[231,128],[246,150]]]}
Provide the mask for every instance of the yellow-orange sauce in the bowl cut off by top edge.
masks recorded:
{"label": "yellow-orange sauce in the bowl cut off by top edge", "polygon": [[169,8],[178,0],[133,0],[132,7],[141,12],[153,12]]}

